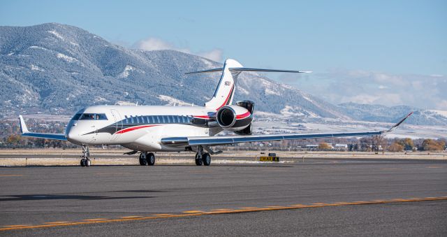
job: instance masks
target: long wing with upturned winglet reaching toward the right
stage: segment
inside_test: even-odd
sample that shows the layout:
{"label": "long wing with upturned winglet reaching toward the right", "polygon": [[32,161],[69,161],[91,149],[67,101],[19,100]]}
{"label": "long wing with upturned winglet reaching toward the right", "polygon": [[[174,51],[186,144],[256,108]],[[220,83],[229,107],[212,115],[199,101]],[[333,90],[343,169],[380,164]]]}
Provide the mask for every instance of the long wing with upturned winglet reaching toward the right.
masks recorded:
{"label": "long wing with upturned winglet reaching toward the right", "polygon": [[386,134],[397,128],[412,113],[406,115],[400,122],[385,131],[359,131],[345,133],[328,133],[328,134],[271,134],[271,135],[251,135],[251,136],[191,136],[191,137],[173,137],[162,138],[163,145],[184,146],[184,145],[228,145],[234,143],[249,143],[257,141],[283,141],[307,138],[338,138],[346,136],[373,136]]}

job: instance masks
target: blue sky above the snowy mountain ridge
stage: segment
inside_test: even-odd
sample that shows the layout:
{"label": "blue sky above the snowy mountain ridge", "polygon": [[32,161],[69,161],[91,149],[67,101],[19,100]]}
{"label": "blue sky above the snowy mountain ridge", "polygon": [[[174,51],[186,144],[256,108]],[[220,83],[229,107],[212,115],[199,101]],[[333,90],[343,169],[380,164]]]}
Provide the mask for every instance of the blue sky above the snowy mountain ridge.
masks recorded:
{"label": "blue sky above the snowy mountain ridge", "polygon": [[[447,1],[0,3],[0,25],[44,22],[81,27],[129,48],[170,48],[216,60],[231,57],[251,67],[311,70],[315,73],[305,77],[272,77],[332,103],[447,110],[441,91],[447,89]],[[337,83],[360,85],[358,94],[365,96],[334,92]],[[432,98],[421,102],[419,94],[429,91]]]}

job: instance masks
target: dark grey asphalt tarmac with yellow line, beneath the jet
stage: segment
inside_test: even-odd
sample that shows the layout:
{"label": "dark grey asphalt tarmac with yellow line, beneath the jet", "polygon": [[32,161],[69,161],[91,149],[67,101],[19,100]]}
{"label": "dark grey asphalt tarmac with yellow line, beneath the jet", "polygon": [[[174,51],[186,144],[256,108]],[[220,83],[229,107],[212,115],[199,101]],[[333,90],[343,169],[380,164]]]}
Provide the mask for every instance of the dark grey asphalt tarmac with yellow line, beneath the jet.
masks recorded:
{"label": "dark grey asphalt tarmac with yellow line, beneath the jet", "polygon": [[447,235],[447,163],[0,168],[1,236]]}

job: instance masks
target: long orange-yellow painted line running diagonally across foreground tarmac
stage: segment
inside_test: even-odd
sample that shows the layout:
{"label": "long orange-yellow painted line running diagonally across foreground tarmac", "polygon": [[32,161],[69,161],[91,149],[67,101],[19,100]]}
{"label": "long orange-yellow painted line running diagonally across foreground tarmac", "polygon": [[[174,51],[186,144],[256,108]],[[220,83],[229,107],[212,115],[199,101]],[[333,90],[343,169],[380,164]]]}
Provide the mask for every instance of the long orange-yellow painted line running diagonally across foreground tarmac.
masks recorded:
{"label": "long orange-yellow painted line running diagonally across foreground tarmac", "polygon": [[[217,211],[217,212],[202,212],[198,210],[192,210],[194,213],[184,213],[184,214],[173,214],[173,215],[160,215],[152,216],[152,217],[135,217],[135,218],[122,218],[122,219],[87,219],[85,222],[67,222],[60,224],[38,224],[38,225],[11,225],[6,226],[4,228],[0,228],[0,231],[13,230],[13,229],[36,229],[36,228],[45,228],[45,227],[64,227],[64,226],[74,226],[80,224],[94,224],[94,223],[111,223],[111,222],[126,222],[131,220],[155,220],[161,218],[174,218],[174,217],[191,217],[191,216],[199,216],[199,215],[219,215],[219,214],[235,214],[235,213],[253,213],[260,212],[265,210],[295,210],[300,208],[321,208],[325,206],[349,206],[349,205],[366,205],[366,204],[374,204],[374,203],[400,203],[403,201],[398,201],[400,199],[390,199],[384,201],[358,201],[358,202],[338,202],[338,203],[328,203],[324,205],[302,205],[295,204],[290,206],[284,206],[281,208],[248,208],[248,209],[237,209],[237,210],[226,210],[226,211]],[[440,197],[426,197],[420,199],[402,199],[405,201],[447,201],[447,196]],[[191,212],[191,211],[188,211]]]}

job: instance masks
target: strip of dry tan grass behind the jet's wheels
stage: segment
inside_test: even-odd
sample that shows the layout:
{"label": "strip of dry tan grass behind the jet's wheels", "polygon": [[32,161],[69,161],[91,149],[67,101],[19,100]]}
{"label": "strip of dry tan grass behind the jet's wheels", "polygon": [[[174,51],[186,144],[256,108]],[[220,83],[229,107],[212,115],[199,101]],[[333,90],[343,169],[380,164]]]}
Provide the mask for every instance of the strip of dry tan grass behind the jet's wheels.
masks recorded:
{"label": "strip of dry tan grass behind the jet's wheels", "polygon": [[[124,155],[129,150],[103,150],[92,148],[94,165],[138,165],[138,155]],[[281,163],[305,162],[306,159],[445,159],[447,152],[275,152]],[[0,150],[0,166],[72,166],[80,163],[80,150],[62,149],[8,149]],[[194,164],[193,152],[156,152],[156,164]],[[260,151],[228,151],[214,155],[213,164],[258,163]]]}

